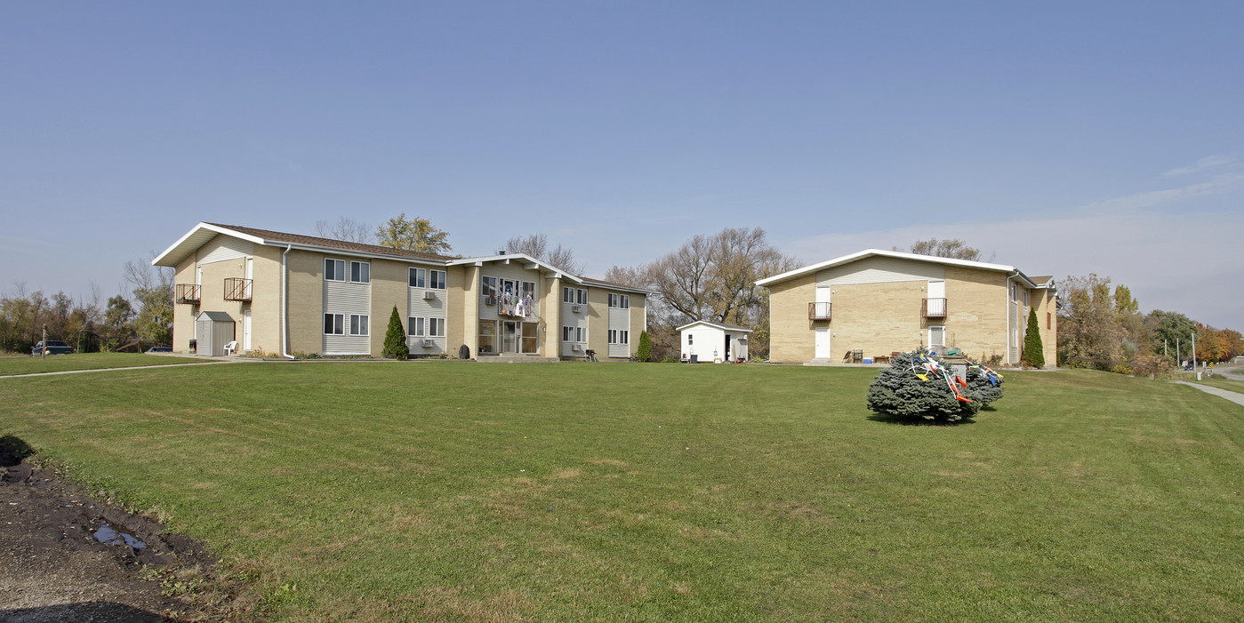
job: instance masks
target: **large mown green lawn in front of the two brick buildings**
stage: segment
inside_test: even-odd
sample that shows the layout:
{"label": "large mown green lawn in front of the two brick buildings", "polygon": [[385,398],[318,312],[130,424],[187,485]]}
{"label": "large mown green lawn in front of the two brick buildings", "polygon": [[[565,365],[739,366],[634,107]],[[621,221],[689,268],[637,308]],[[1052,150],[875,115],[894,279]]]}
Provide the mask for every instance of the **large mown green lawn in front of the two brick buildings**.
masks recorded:
{"label": "large mown green lawn in front of the two brick buildings", "polygon": [[294,363],[0,382],[0,434],[229,561],[277,621],[1239,621],[1244,408],[1008,373]]}

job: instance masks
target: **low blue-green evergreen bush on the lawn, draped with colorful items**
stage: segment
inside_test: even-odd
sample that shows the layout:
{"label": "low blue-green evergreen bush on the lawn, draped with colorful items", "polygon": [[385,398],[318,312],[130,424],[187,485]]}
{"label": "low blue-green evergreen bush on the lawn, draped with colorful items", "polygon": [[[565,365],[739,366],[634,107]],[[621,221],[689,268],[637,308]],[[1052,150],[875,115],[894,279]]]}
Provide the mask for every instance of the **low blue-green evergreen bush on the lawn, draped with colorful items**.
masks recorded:
{"label": "low blue-green evergreen bush on the lawn, draped with colorful items", "polygon": [[965,363],[963,378],[923,347],[901,353],[868,385],[868,408],[899,418],[970,418],[1003,397],[1003,376],[978,362]]}

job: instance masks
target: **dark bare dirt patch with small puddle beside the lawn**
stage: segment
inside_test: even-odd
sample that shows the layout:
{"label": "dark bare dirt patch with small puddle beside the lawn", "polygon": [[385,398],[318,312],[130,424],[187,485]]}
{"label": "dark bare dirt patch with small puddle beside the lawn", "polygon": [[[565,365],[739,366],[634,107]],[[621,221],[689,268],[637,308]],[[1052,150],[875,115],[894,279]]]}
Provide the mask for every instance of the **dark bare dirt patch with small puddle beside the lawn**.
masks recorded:
{"label": "dark bare dirt patch with small puddle beside the lawn", "polygon": [[[202,543],[101,504],[52,470],[27,463],[29,453],[14,445],[0,444],[0,622],[223,621],[240,614]],[[100,542],[96,533],[103,526],[143,547]]]}

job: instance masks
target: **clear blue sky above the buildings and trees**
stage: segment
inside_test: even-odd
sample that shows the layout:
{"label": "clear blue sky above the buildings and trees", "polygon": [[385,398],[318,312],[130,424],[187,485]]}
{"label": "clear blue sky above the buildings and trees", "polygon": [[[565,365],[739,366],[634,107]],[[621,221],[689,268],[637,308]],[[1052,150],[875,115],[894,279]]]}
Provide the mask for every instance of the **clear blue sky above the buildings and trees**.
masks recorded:
{"label": "clear blue sky above the buildings and trees", "polygon": [[4,2],[0,291],[407,213],[600,276],[963,238],[1244,328],[1244,2]]}

